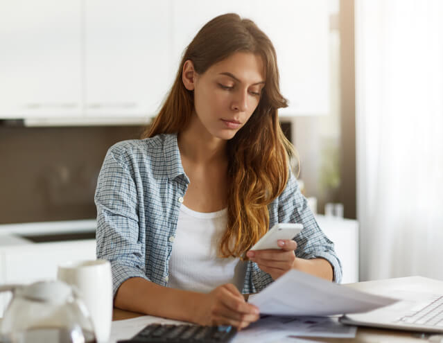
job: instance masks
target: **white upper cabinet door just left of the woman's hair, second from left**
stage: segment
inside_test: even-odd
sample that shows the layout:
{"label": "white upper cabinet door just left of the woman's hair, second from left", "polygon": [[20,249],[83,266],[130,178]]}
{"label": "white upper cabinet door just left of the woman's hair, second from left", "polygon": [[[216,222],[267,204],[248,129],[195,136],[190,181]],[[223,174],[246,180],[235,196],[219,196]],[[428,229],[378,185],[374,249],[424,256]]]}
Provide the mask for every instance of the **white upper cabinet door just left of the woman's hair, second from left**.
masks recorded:
{"label": "white upper cabinet door just left of the woman's hair, second from left", "polygon": [[169,1],[85,1],[85,115],[157,113],[171,82]]}

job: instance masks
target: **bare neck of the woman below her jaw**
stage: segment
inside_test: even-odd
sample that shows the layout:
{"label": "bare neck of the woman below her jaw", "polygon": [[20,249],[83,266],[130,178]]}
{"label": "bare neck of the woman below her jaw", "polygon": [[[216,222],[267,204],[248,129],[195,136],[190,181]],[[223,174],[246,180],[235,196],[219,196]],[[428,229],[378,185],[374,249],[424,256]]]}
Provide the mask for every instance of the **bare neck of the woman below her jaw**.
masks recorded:
{"label": "bare neck of the woman below her jaw", "polygon": [[196,164],[220,162],[227,158],[227,141],[207,132],[196,114],[193,114],[188,127],[177,135],[177,143],[180,155]]}

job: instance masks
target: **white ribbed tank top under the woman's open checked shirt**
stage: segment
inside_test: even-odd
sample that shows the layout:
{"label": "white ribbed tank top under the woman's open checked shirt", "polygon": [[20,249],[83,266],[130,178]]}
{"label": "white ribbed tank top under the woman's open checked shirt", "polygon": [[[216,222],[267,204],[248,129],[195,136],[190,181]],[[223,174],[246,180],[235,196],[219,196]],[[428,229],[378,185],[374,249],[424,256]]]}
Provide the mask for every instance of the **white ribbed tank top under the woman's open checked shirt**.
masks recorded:
{"label": "white ribbed tank top under the woman's open checked shirt", "polygon": [[201,213],[181,205],[169,258],[168,287],[207,293],[224,283],[234,283],[242,290],[245,262],[217,257],[226,227],[226,209]]}

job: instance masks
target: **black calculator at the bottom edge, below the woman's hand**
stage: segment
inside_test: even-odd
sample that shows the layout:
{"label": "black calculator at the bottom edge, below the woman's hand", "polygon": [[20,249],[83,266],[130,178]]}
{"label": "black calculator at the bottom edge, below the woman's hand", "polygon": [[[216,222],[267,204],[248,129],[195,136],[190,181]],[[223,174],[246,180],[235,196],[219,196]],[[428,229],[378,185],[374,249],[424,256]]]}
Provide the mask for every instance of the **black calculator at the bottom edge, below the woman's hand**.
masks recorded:
{"label": "black calculator at the bottom edge, below the woman's hand", "polygon": [[117,343],[225,343],[236,333],[234,326],[149,324],[130,340]]}

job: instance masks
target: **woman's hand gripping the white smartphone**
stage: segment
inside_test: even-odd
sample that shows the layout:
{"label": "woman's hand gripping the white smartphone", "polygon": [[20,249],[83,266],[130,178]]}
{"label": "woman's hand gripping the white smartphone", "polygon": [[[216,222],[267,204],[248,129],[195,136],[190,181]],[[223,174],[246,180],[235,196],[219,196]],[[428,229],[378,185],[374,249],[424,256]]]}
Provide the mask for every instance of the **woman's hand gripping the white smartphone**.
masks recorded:
{"label": "woman's hand gripping the white smartphone", "polygon": [[252,262],[257,263],[263,272],[267,272],[276,280],[281,275],[293,269],[295,263],[295,249],[297,243],[294,240],[278,240],[279,249],[250,250],[246,256]]}

